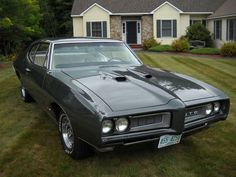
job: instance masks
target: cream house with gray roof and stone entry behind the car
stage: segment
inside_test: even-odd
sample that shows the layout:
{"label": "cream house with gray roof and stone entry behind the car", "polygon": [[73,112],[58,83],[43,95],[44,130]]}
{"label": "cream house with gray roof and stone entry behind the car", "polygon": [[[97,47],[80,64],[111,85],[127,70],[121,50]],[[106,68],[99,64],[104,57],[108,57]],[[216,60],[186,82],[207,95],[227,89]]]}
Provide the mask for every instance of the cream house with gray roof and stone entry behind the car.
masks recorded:
{"label": "cream house with gray roof and stone entry behind the car", "polygon": [[236,40],[236,0],[75,0],[71,17],[76,37],[171,44],[202,23],[217,45]]}

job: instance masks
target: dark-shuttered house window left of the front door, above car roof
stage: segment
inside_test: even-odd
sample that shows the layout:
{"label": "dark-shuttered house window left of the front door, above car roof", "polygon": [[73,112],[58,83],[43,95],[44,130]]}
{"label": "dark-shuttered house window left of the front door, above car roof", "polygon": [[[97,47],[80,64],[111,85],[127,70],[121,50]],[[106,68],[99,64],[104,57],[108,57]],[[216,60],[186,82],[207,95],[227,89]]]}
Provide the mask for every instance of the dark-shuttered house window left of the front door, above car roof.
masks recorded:
{"label": "dark-shuttered house window left of the front door, above car roof", "polygon": [[98,22],[87,22],[87,37],[107,37],[107,22],[98,21]]}

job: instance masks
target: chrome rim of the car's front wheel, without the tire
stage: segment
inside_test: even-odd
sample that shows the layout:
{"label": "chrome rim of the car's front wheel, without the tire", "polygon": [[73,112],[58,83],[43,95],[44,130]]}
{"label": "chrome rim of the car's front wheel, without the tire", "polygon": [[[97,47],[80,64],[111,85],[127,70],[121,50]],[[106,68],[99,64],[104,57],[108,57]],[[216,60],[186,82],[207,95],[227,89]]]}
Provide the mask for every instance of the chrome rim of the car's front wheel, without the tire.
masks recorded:
{"label": "chrome rim of the car's front wheel, without the tire", "polygon": [[62,139],[68,149],[73,149],[74,145],[74,133],[70,123],[70,120],[66,115],[62,117],[61,121],[61,134]]}

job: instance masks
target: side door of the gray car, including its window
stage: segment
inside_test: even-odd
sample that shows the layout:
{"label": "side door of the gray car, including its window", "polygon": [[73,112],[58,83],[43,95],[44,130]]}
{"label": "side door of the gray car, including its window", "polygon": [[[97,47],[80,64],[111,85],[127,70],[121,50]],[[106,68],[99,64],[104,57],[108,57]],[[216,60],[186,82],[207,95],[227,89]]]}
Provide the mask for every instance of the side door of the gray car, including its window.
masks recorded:
{"label": "side door of the gray car, including its window", "polygon": [[43,104],[45,99],[43,84],[47,73],[49,43],[35,44],[31,48],[28,57],[29,62],[25,68],[25,87],[38,103]]}

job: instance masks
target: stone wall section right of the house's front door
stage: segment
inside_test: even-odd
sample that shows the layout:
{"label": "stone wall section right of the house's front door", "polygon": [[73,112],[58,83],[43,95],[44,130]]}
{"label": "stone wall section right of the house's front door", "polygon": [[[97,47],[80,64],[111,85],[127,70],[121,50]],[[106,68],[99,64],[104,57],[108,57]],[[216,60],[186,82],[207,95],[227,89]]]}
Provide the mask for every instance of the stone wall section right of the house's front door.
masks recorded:
{"label": "stone wall section right of the house's front door", "polygon": [[145,39],[153,38],[153,16],[144,15],[141,18],[142,22],[142,43]]}

